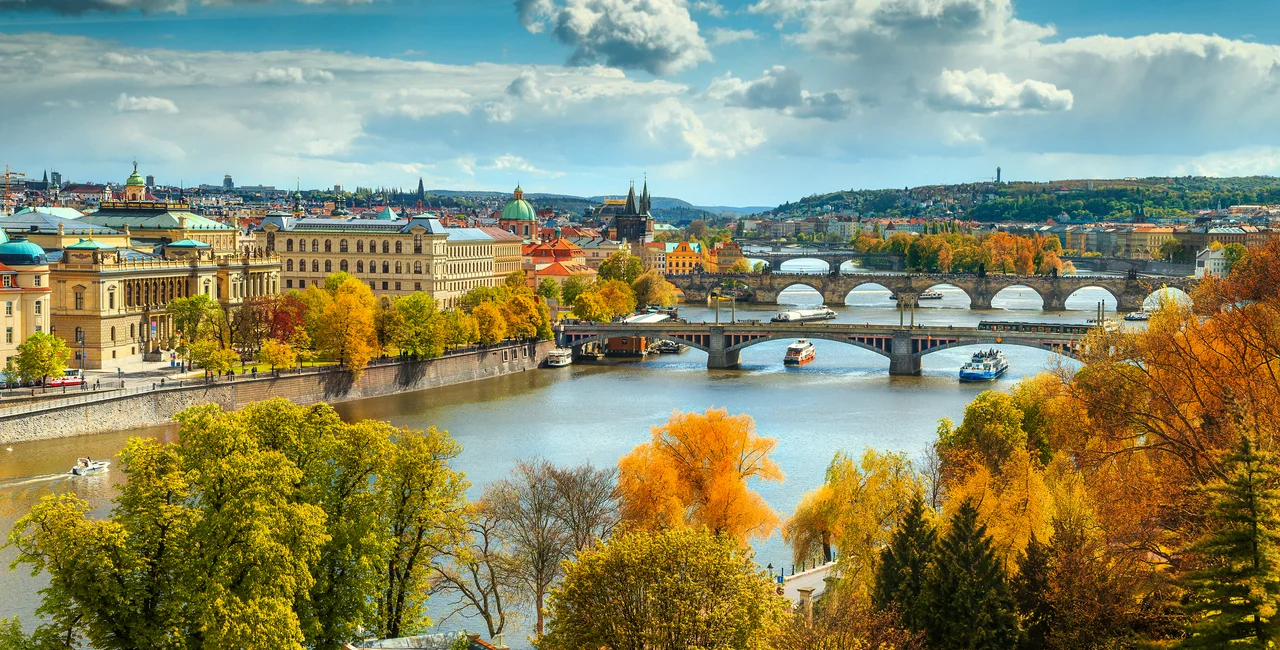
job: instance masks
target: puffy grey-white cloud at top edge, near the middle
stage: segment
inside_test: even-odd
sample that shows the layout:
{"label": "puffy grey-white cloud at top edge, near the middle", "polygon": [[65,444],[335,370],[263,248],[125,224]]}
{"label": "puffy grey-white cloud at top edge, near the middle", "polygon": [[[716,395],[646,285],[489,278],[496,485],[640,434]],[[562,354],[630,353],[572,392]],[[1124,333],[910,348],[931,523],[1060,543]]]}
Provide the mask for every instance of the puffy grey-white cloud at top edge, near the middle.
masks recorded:
{"label": "puffy grey-white cloud at top edge, near the middle", "polygon": [[570,63],[672,74],[712,60],[685,0],[516,0],[521,23],[573,47]]}

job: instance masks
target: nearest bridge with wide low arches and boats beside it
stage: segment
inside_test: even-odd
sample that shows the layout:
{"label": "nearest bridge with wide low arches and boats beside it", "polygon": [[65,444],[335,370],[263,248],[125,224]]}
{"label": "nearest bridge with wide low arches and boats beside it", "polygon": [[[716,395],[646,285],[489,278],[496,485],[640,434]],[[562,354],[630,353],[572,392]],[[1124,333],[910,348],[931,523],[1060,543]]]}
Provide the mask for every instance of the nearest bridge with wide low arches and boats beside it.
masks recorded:
{"label": "nearest bridge with wide low arches and boats beside it", "polygon": [[[1047,326],[1048,324],[1046,324]],[[1024,345],[1074,357],[1079,334],[1050,331],[988,331],[977,328],[896,328],[891,325],[845,325],[828,322],[602,322],[561,325],[557,340],[575,351],[611,338],[648,337],[669,339],[707,353],[707,367],[731,369],[739,353],[767,340],[820,339],[845,343],[888,357],[890,375],[919,375],[925,354],[960,345]]]}

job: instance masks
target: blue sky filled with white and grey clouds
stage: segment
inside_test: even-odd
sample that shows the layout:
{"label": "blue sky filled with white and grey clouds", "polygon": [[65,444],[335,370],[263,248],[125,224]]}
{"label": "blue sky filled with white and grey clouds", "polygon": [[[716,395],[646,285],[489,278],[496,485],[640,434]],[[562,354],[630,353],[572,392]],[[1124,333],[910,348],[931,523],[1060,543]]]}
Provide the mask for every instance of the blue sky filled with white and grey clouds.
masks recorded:
{"label": "blue sky filled with white and grey clouds", "polygon": [[1280,175],[1272,0],[0,0],[40,178],[777,205]]}

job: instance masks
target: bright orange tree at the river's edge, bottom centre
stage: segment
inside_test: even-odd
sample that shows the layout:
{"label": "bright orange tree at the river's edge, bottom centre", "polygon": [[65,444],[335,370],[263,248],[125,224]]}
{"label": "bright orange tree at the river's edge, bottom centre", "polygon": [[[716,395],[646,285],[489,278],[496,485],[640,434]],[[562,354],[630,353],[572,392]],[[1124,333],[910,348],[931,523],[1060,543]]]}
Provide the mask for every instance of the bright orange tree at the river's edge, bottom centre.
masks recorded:
{"label": "bright orange tree at the river's edge, bottom centre", "polygon": [[622,519],[645,528],[705,526],[739,540],[768,537],[778,516],[748,481],[782,481],[777,440],[750,416],[675,412],[650,441],[618,461]]}

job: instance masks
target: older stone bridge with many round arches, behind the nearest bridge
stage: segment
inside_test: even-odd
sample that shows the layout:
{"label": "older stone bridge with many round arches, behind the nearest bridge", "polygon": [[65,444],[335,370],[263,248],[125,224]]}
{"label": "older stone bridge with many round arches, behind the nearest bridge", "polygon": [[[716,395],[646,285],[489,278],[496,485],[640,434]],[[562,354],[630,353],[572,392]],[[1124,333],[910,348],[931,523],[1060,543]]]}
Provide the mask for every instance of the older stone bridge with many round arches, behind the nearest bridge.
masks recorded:
{"label": "older stone bridge with many round arches, behind the nearest bridge", "polygon": [[878,284],[893,292],[904,305],[913,305],[916,296],[940,285],[950,284],[969,296],[969,307],[989,310],[991,299],[1001,289],[1025,287],[1044,301],[1043,311],[1066,310],[1066,298],[1085,287],[1097,287],[1111,294],[1119,311],[1138,311],[1152,293],[1175,288],[1190,293],[1196,285],[1192,278],[1162,278],[1160,280],[1135,276],[1114,278],[1101,275],[970,275],[970,274],[694,274],[668,275],[667,279],[685,293],[686,302],[705,301],[712,292],[736,289],[745,299],[755,303],[776,305],[778,294],[788,287],[803,285],[822,294],[828,305],[844,305],[849,292],[864,285]]}

